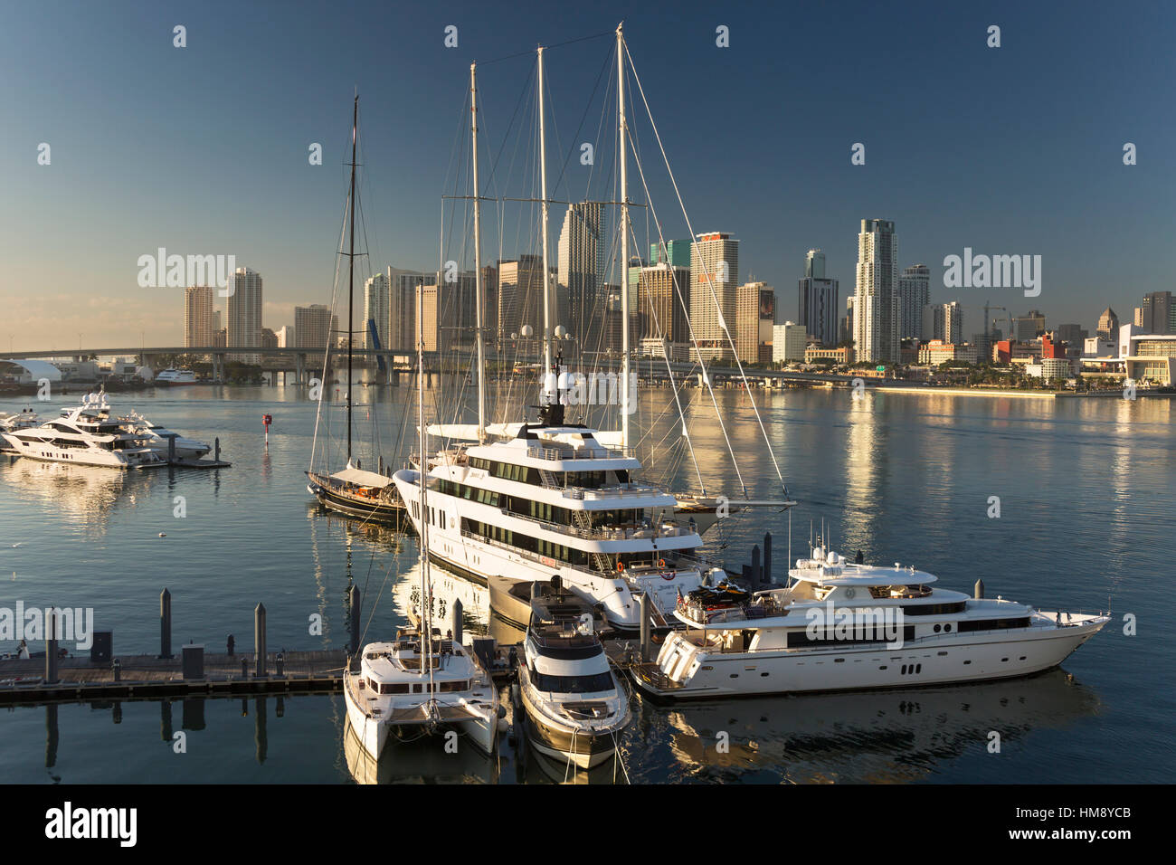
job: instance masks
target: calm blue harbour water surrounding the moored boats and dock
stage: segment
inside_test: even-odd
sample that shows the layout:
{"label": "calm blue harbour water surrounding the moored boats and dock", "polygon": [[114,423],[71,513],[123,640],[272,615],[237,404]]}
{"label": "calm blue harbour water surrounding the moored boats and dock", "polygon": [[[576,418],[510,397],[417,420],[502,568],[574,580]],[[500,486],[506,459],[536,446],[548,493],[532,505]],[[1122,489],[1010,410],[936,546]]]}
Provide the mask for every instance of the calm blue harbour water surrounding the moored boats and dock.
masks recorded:
{"label": "calm blue harbour water surrounding the moored boats and dock", "polygon": [[[710,492],[737,495],[723,435],[704,394],[686,392],[695,451]],[[403,391],[355,411],[394,459]],[[374,388],[363,398],[376,399]],[[694,468],[666,450],[671,426],[655,392],[659,465],[684,481]],[[739,470],[754,498],[780,493],[746,395],[719,394]],[[173,641],[222,651],[233,633],[252,647],[265,603],[270,648],[340,647],[349,580],[365,590],[368,637],[402,621],[415,546],[387,530],[320,512],[306,492],[314,405],[294,388],[212,388],[115,394],[195,438],[220,437],[221,471],[119,473],[0,460],[0,606],[92,606],[118,653],[158,652],[159,592],[173,595]],[[1098,610],[1115,620],[1061,671],[1008,683],[873,694],[736,700],[662,708],[636,703],[622,741],[635,781],[1160,781],[1172,768],[1169,595],[1176,559],[1176,451],[1169,400],[981,399],[848,391],[757,394],[789,492],[791,557],[810,521],[867,560],[914,564],[947,588],[1042,608]],[[51,417],[73,398],[34,404]],[[0,401],[12,411],[24,401]],[[341,410],[325,407],[335,432]],[[446,407],[446,411],[449,411]],[[268,450],[261,415],[274,415]],[[374,417],[373,417],[374,415]],[[642,418],[644,427],[649,418]],[[321,445],[321,441],[320,441]],[[363,451],[365,465],[374,463]],[[661,472],[650,472],[657,478]],[[989,498],[1001,517],[990,519]],[[187,515],[178,518],[176,497]],[[787,514],[760,511],[708,535],[739,570],[750,544],[774,534],[776,574]],[[159,537],[160,533],[166,537]],[[437,574],[439,603],[460,597],[487,621],[485,592]],[[379,600],[377,600],[379,599]],[[1157,603],[1158,601],[1158,603]],[[1137,636],[1122,614],[1137,617]],[[310,617],[322,634],[309,636]],[[11,651],[13,641],[0,643]],[[412,748],[376,771],[343,736],[341,697],[19,707],[0,713],[6,781],[322,781],[562,779],[563,768],[507,744],[490,765]],[[171,732],[186,730],[187,753]],[[1001,734],[989,753],[989,732]],[[719,747],[727,733],[729,748]],[[49,764],[49,765],[47,765]],[[612,768],[589,780],[612,780]],[[583,778],[581,777],[581,780]]]}

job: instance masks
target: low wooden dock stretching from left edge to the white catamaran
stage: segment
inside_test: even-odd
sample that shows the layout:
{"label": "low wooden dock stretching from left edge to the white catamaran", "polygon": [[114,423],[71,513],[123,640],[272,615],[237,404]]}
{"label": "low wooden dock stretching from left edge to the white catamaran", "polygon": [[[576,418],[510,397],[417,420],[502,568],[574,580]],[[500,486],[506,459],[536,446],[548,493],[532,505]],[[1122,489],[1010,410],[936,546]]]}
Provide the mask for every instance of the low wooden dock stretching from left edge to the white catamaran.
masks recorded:
{"label": "low wooden dock stretching from left edge to the white catamaran", "polygon": [[[282,672],[278,673],[278,656]],[[340,691],[347,652],[341,648],[267,653],[267,676],[255,676],[253,654],[206,654],[203,678],[185,679],[182,661],[151,654],[121,656],[94,664],[88,658],[58,661],[58,681],[45,680],[45,656],[0,660],[0,705],[152,697],[226,697]],[[246,663],[242,671],[241,661]]]}

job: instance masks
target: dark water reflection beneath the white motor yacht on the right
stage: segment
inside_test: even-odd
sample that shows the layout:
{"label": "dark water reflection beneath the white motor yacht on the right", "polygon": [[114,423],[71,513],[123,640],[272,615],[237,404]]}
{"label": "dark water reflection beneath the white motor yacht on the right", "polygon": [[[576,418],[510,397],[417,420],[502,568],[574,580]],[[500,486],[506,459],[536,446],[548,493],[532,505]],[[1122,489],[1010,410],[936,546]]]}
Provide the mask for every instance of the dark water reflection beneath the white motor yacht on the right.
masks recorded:
{"label": "dark water reflection beneath the white motor yacht on the right", "polygon": [[922,780],[965,751],[982,752],[991,731],[1007,746],[1100,706],[1093,688],[1054,670],[951,687],[683,705],[666,720],[674,759],[696,779],[762,770],[789,783],[888,783]]}

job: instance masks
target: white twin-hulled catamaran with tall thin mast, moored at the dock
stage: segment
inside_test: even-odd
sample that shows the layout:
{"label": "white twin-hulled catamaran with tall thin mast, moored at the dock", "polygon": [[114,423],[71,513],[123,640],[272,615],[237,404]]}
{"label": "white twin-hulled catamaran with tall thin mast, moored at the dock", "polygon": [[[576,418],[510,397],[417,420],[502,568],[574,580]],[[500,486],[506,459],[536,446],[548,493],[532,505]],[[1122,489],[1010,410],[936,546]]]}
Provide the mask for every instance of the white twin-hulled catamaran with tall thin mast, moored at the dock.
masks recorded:
{"label": "white twin-hulled catamaran with tall thin mast, moored at the dock", "polygon": [[[419,286],[417,293],[422,290]],[[423,334],[423,326],[421,327]],[[425,443],[423,337],[417,345],[417,418],[421,446]],[[397,477],[408,470],[397,472]],[[428,511],[426,485],[416,487],[413,505]],[[420,537],[421,604],[419,625],[401,627],[395,639],[369,643],[360,653],[358,671],[348,664],[343,674],[343,698],[350,731],[376,761],[389,737],[415,738],[454,731],[466,736],[486,753],[497,740],[500,711],[494,680],[477,656],[462,645],[460,612],[442,637],[433,626],[433,581],[428,557],[429,539]]]}

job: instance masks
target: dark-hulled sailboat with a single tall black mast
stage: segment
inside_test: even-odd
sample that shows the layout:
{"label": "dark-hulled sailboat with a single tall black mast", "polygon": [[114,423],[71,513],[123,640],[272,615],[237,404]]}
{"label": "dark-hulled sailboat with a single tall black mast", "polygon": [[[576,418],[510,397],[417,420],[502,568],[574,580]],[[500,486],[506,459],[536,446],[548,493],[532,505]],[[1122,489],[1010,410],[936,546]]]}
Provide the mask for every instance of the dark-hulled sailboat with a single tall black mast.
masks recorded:
{"label": "dark-hulled sailboat with a single tall black mast", "polygon": [[[329,474],[316,472],[313,468],[314,448],[312,447],[312,468],[306,473],[308,479],[306,488],[320,504],[332,511],[362,517],[365,520],[399,525],[403,518],[405,506],[392,478],[383,474],[382,461],[379,465],[380,471],[373,472],[362,468],[360,460],[352,459],[352,342],[355,333],[352,307],[355,298],[355,155],[359,145],[359,111],[360,98],[356,95],[352,115],[352,181],[348,195],[349,248],[348,252],[341,253],[347,255],[347,464],[340,471]],[[320,411],[315,417],[315,443],[319,439],[321,406],[320,400]]]}

